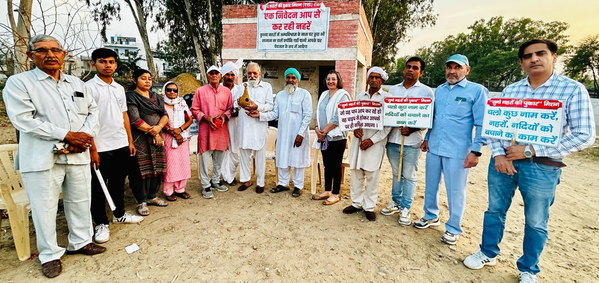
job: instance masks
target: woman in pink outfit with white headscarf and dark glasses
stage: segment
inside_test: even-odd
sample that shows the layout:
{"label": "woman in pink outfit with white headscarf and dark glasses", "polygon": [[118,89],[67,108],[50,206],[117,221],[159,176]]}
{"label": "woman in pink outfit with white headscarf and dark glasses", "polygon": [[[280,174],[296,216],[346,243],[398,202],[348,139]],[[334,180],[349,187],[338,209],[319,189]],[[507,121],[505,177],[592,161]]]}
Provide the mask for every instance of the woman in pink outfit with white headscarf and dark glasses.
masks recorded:
{"label": "woman in pink outfit with white headscarf and dark glasses", "polygon": [[176,201],[177,197],[190,197],[185,191],[187,179],[191,177],[189,162],[189,127],[193,117],[189,107],[179,97],[179,86],[175,82],[167,82],[162,88],[164,108],[167,110],[168,124],[164,131],[164,151],[167,155],[167,173],[164,174],[162,191],[168,201]]}

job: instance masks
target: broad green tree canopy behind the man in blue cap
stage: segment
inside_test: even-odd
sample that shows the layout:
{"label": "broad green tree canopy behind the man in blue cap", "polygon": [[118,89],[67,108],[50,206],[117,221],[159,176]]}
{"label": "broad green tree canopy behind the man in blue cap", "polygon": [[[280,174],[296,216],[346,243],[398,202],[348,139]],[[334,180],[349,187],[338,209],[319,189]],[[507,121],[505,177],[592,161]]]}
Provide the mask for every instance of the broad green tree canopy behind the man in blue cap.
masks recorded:
{"label": "broad green tree canopy behind the man in blue cap", "polygon": [[468,79],[485,85],[491,91],[500,91],[510,83],[525,77],[518,59],[518,48],[525,41],[545,38],[555,41],[558,55],[567,50],[568,29],[565,22],[543,22],[528,18],[504,20],[503,17],[480,19],[468,26],[470,32],[449,35],[429,47],[416,50],[415,56],[426,64],[421,82],[440,85],[445,79],[445,61],[460,53],[470,61]]}

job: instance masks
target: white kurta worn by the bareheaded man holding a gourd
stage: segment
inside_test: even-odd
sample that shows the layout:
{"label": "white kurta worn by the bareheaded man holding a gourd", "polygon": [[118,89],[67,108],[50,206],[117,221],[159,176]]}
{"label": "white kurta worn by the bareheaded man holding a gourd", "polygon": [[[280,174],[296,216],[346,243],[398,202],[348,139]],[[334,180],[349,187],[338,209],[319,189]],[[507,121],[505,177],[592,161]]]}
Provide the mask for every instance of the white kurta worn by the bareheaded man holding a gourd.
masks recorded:
{"label": "white kurta worn by the bareheaded man holding a gourd", "polygon": [[[239,86],[239,96],[235,98],[235,101],[243,95],[244,89],[244,85]],[[250,95],[250,100],[258,106],[258,112],[273,110],[273,87],[270,83],[261,81],[255,88],[248,85],[247,93]],[[252,118],[246,112],[244,109],[239,111],[237,146],[243,149],[262,149],[268,136],[268,121]]]}

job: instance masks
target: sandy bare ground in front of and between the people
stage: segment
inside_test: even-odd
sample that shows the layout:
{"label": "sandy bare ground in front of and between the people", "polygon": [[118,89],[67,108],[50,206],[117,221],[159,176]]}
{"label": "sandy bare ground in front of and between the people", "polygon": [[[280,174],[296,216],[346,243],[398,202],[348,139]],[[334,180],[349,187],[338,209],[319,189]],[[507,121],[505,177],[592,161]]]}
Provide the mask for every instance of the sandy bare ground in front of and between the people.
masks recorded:
{"label": "sandy bare ground in front of and between the people", "polygon": [[[13,140],[9,140],[13,139]],[[14,130],[0,128],[0,143],[14,143]],[[549,240],[541,256],[540,282],[599,281],[599,184],[594,150],[566,159],[551,208]],[[412,221],[422,216],[424,155],[412,208]],[[470,270],[463,264],[480,243],[487,206],[486,172],[489,151],[470,171],[464,234],[452,251],[441,243],[444,226],[418,230],[397,223],[398,215],[344,215],[350,204],[349,170],[341,187],[343,199],[332,206],[291,193],[255,194],[235,188],[201,197],[195,158],[187,191],[192,198],[168,207],[150,207],[140,224],[110,225],[111,239],[104,254],[62,257],[63,273],[54,282],[518,282],[516,260],[524,236],[524,207],[516,193],[507,215],[506,233],[495,267]],[[310,176],[307,171],[306,183]],[[383,161],[376,212],[391,199],[391,167]],[[254,180],[255,182],[255,180]],[[275,186],[274,163],[267,162],[267,189]],[[135,201],[126,188],[127,209]],[[319,189],[320,191],[321,189]],[[441,220],[447,202],[441,189]],[[58,215],[58,242],[66,246],[68,229]],[[36,253],[30,227],[31,251]],[[137,243],[140,251],[125,252]],[[2,220],[0,283],[50,281],[37,257],[19,261],[8,219]]]}

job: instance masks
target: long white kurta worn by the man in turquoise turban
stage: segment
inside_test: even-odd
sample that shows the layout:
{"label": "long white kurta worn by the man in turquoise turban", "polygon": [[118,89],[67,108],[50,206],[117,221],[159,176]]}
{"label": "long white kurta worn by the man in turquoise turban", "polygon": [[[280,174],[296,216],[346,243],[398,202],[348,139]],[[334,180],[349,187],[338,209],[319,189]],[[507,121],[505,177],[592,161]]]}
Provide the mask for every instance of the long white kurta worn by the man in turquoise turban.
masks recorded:
{"label": "long white kurta worn by the man in turquoise turban", "polygon": [[[271,112],[260,113],[260,121],[279,118],[275,159],[279,168],[310,166],[310,135],[312,97],[305,89],[297,88],[293,94],[280,91]],[[295,137],[304,137],[301,146],[294,147]]]}

